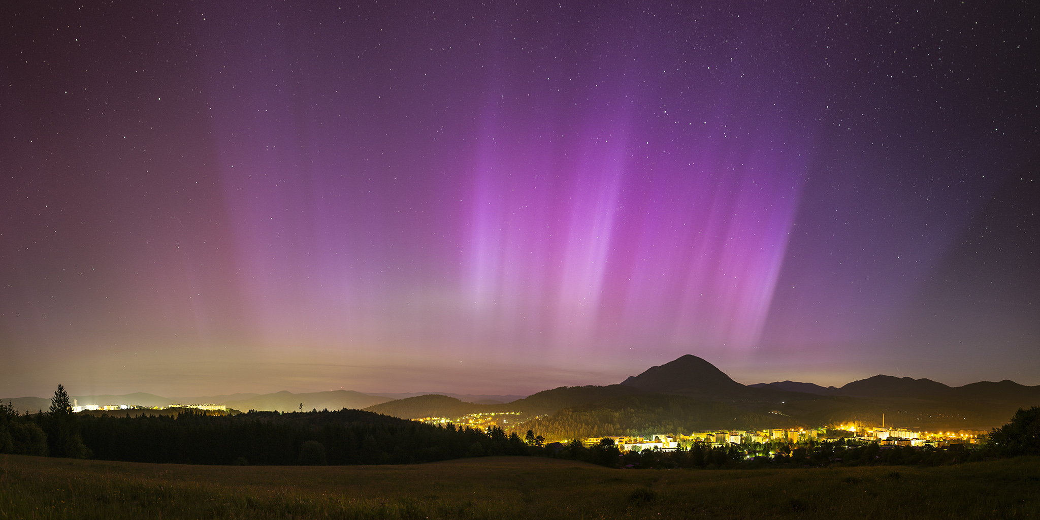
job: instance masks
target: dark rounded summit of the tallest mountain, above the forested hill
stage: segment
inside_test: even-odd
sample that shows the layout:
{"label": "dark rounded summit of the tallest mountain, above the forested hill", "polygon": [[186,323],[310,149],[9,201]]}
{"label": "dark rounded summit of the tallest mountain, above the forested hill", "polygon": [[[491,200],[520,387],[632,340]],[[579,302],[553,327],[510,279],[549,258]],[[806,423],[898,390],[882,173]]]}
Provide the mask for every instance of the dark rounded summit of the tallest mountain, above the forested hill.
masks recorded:
{"label": "dark rounded summit of the tallest mountain, above the forested hill", "polygon": [[685,355],[660,366],[652,366],[621,383],[646,392],[695,390],[708,393],[745,392],[748,387],[733,381],[711,363]]}

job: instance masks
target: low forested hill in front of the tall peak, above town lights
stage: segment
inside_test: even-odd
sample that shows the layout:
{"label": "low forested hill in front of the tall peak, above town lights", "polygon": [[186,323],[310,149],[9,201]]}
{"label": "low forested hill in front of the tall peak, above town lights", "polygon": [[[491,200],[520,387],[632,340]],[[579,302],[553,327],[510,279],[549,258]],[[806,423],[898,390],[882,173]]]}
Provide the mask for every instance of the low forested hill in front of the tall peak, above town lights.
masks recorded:
{"label": "low forested hill in front of the tall peak, above town lights", "polygon": [[705,430],[755,430],[794,426],[776,414],[742,410],[724,402],[703,401],[681,395],[625,395],[594,404],[565,408],[515,427],[534,430],[550,441],[603,436],[690,434]]}

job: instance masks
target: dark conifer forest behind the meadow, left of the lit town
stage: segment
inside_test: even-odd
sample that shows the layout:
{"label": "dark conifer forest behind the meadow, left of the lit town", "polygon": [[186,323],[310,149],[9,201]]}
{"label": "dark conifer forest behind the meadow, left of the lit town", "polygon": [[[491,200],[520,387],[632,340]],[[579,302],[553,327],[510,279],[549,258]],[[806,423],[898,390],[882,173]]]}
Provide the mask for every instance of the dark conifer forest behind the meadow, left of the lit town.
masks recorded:
{"label": "dark conifer forest behind the meadow, left of the lit town", "polygon": [[183,464],[413,464],[484,454],[526,454],[516,435],[408,421],[360,410],[186,411],[137,417],[83,417],[83,442],[97,459]]}

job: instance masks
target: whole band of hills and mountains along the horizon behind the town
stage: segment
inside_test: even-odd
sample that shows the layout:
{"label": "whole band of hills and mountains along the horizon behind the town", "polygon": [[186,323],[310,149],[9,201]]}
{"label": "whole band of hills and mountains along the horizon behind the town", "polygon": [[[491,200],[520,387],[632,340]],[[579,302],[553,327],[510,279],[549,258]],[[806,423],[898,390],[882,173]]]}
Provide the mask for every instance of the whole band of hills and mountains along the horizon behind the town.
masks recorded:
{"label": "whole band of hills and mountains along the horizon behind the town", "polygon": [[[680,396],[682,399],[669,397],[660,400],[662,394]],[[407,397],[393,399],[393,395],[407,395]],[[658,397],[653,397],[654,395]],[[549,415],[564,413],[571,414],[568,420],[577,422],[566,427],[560,423],[553,427],[556,430],[564,427],[573,432],[592,432],[601,426],[605,428],[607,422],[614,420],[612,417],[619,421],[627,417],[623,422],[630,425],[646,424],[647,427],[652,424],[661,427],[665,424],[692,427],[693,424],[717,423],[714,419],[707,420],[710,414],[701,413],[706,410],[725,410],[705,408],[706,404],[714,402],[739,410],[740,414],[734,417],[744,417],[738,422],[747,423],[749,426],[770,421],[777,424],[795,421],[803,425],[835,424],[848,420],[880,423],[882,415],[885,415],[889,423],[898,421],[902,424],[912,424],[914,427],[988,430],[1003,424],[1003,421],[1006,421],[1018,408],[1040,405],[1040,386],[1019,385],[1005,380],[950,387],[928,379],[915,380],[884,374],[853,381],[840,388],[795,381],[745,386],[733,381],[708,361],[685,355],[669,363],[652,366],[616,385],[562,386],[508,404],[484,397],[514,396],[440,393],[381,396],[350,390],[296,394],[283,390],[263,395],[231,394],[166,398],[148,393],[135,393],[74,398],[81,406],[164,407],[211,402],[243,412],[363,409],[399,418],[458,418],[473,413],[512,412],[517,414],[516,418],[520,420],[545,420]],[[21,413],[46,411],[50,407],[50,399],[42,397],[2,400],[10,400]],[[635,409],[649,406],[650,402],[669,402],[670,407],[674,405],[677,408],[654,411]],[[685,412],[680,413],[680,409]],[[596,417],[602,421],[595,424],[582,423],[582,421],[599,420]],[[678,422],[669,422],[671,420],[669,417]],[[763,422],[760,420],[761,417],[768,417],[769,420]],[[511,423],[513,419],[510,419]],[[633,426],[629,426],[631,427]]]}

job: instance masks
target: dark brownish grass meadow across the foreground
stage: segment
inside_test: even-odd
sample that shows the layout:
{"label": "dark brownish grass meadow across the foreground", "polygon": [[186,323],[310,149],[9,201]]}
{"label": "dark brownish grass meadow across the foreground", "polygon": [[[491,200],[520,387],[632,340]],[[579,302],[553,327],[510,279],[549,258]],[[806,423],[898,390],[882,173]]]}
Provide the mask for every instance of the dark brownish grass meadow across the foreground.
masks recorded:
{"label": "dark brownish grass meadow across the foreground", "polygon": [[324,467],[0,457],[0,519],[1040,519],[1040,458],[622,470],[519,457]]}

